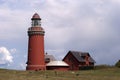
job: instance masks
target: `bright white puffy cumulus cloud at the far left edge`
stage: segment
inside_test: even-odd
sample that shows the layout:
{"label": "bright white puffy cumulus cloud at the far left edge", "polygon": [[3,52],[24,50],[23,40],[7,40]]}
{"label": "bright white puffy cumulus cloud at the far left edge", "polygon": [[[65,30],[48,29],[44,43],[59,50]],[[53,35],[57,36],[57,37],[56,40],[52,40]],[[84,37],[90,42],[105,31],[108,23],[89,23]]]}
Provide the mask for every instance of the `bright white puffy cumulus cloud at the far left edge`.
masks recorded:
{"label": "bright white puffy cumulus cloud at the far left edge", "polygon": [[13,62],[13,57],[6,47],[0,47],[0,64],[10,64]]}

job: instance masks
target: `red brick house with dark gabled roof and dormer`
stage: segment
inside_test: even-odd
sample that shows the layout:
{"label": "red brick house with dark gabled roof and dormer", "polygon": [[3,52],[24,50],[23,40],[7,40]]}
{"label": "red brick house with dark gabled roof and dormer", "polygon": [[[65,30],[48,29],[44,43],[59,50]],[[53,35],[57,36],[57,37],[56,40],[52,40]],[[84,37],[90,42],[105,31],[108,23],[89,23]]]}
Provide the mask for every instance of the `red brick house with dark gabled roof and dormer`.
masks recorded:
{"label": "red brick house with dark gabled roof and dormer", "polygon": [[69,70],[91,69],[95,64],[88,52],[79,51],[69,51],[63,61],[69,65]]}

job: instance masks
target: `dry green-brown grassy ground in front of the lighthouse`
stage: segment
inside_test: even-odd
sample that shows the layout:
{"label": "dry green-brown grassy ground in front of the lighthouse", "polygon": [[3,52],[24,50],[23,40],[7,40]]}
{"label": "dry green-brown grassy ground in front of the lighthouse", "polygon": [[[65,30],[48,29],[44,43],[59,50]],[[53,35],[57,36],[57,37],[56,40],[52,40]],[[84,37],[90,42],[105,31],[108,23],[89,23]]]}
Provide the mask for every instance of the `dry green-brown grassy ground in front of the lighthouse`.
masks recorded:
{"label": "dry green-brown grassy ground in front of the lighthouse", "polygon": [[0,80],[120,80],[120,68],[65,72],[0,69]]}

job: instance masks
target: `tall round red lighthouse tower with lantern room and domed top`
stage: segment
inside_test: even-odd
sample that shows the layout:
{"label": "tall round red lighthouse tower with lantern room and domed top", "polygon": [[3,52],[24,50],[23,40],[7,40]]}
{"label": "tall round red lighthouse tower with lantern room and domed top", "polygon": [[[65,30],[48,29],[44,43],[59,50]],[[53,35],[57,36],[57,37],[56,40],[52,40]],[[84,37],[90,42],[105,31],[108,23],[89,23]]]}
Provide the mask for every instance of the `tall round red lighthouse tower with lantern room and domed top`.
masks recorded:
{"label": "tall round red lighthouse tower with lantern room and domed top", "polygon": [[26,70],[45,70],[44,59],[44,29],[41,27],[41,18],[35,13],[32,27],[28,29],[28,61]]}

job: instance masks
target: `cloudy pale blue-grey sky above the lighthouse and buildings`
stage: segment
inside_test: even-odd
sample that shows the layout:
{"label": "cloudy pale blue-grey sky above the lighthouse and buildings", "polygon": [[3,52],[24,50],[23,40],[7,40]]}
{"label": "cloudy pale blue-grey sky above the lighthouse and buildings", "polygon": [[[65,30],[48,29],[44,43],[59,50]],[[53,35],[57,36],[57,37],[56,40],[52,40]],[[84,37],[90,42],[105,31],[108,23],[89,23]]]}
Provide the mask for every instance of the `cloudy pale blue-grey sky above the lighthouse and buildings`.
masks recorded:
{"label": "cloudy pale blue-grey sky above the lighthouse and buildings", "polygon": [[96,64],[120,59],[120,0],[0,0],[0,67],[25,69],[31,17],[45,29],[45,52],[61,60],[89,52]]}

